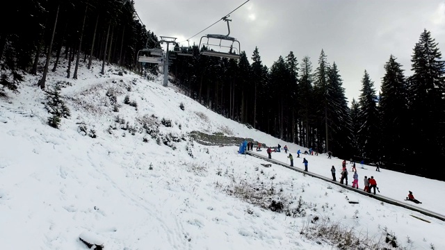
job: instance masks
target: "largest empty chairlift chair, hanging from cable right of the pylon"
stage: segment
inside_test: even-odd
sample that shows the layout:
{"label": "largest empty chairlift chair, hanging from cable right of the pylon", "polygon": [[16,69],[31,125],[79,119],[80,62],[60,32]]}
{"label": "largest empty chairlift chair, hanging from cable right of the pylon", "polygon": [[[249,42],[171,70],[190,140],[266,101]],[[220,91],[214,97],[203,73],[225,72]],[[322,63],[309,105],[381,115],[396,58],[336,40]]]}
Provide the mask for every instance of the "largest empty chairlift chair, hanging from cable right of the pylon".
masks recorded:
{"label": "largest empty chairlift chair, hanging from cable right of the pylon", "polygon": [[[229,33],[227,35],[218,35],[218,34],[207,34],[203,35],[200,39],[200,51],[201,55],[204,56],[216,56],[216,57],[223,57],[223,58],[230,58],[230,59],[239,59],[240,58],[240,51],[241,51],[241,44],[236,40],[235,38],[229,37],[230,35],[230,26],[229,21],[232,21],[231,19],[227,19],[227,17],[223,17],[223,20],[227,22],[227,29]],[[202,42],[202,38],[207,38],[207,42]],[[210,43],[210,40],[220,40],[219,44],[213,44]],[[232,42],[232,44],[222,44],[224,41]],[[234,44],[237,43],[238,46],[234,46]],[[204,49],[204,47],[206,47]],[[218,49],[219,48],[219,49]],[[218,49],[218,50],[216,50]],[[225,49],[227,49],[225,51]]]}

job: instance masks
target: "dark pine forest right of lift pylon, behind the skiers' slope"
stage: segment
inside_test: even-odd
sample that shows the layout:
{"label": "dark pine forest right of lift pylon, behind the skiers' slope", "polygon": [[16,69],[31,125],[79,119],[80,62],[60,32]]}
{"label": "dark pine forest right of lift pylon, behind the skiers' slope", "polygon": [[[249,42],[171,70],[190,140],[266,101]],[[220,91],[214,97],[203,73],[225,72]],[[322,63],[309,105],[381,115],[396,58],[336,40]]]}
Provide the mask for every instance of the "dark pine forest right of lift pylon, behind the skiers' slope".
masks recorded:
{"label": "dark pine forest right of lift pylon, behind the skiers' slope", "polygon": [[320,153],[445,180],[437,165],[445,156],[445,65],[430,31],[414,46],[411,76],[389,55],[381,92],[365,69],[350,107],[340,70],[323,49],[314,66],[290,51],[270,68],[257,47],[252,64],[245,51],[238,61],[193,52],[177,57],[170,73],[211,110]]}

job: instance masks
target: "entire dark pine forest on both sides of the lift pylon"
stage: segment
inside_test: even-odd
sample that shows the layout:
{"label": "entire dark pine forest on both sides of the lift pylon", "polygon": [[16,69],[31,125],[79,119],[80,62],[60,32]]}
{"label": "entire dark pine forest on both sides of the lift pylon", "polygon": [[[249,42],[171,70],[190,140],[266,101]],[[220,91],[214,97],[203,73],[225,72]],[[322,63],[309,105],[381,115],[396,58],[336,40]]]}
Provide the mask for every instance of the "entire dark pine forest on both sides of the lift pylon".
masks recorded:
{"label": "entire dark pine forest on both sides of the lift pylon", "polygon": [[[40,77],[36,87],[44,89],[48,70],[76,79],[79,65],[90,69],[93,58],[102,61],[96,69],[102,74],[110,63],[135,72],[159,70],[137,61],[140,49],[159,47],[159,40],[138,19],[134,1],[12,1],[0,13],[7,24],[0,30],[3,88],[15,90],[23,74],[34,74]],[[68,65],[59,65],[61,56],[70,59]],[[193,45],[193,56],[177,56],[170,74],[202,105],[286,142],[445,180],[445,171],[435,167],[445,154],[445,69],[430,31],[414,45],[411,76],[389,55],[382,91],[376,93],[365,70],[361,94],[350,107],[340,69],[323,49],[316,65],[309,56],[299,62],[293,51],[270,68],[257,47],[252,63],[245,51],[240,56],[202,56]]]}

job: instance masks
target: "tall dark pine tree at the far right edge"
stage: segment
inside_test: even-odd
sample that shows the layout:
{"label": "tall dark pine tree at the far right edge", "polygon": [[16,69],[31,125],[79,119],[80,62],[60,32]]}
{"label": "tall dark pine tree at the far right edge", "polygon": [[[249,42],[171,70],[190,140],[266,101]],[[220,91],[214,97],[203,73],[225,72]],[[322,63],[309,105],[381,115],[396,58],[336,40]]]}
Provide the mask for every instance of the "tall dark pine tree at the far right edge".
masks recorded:
{"label": "tall dark pine tree at the far right edge", "polygon": [[[408,98],[415,135],[408,162],[411,169],[426,174],[432,163],[445,156],[445,63],[429,31],[421,33],[411,62],[413,74],[408,81]],[[445,170],[440,171],[444,176]]]}

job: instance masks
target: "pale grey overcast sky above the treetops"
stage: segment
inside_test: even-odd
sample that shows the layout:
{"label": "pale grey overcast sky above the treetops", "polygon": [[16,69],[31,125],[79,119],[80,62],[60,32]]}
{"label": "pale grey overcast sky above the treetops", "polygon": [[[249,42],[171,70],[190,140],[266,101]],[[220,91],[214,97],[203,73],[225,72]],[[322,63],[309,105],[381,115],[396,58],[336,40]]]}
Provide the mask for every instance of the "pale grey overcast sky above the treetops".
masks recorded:
{"label": "pale grey overcast sky above the treetops", "polygon": [[[183,42],[229,14],[245,0],[136,0],[136,12],[156,36]],[[314,69],[321,49],[329,63],[337,63],[348,101],[358,99],[366,69],[380,90],[383,66],[393,54],[410,75],[412,49],[426,28],[445,44],[445,1],[439,0],[250,0],[229,19],[230,36],[241,43],[250,63],[255,47],[270,67],[290,51],[298,63],[309,56]],[[223,21],[199,33],[227,35]],[[181,43],[186,46],[187,42]]]}

